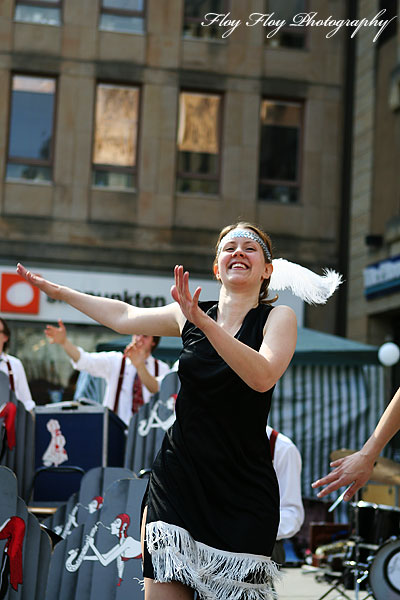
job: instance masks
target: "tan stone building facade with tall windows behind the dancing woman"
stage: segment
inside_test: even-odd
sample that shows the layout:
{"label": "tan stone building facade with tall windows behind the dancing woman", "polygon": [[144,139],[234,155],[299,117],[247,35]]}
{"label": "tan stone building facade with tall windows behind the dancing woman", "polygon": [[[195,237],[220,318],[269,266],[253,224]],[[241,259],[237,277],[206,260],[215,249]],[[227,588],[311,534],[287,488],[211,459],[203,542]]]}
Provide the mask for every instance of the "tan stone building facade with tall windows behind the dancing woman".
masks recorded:
{"label": "tan stone building facade with tall windows behind the dancing woman", "polygon": [[[223,25],[214,37],[183,35],[190,5],[184,0],[134,3],[143,8],[143,31],[134,33],[100,26],[110,4],[105,0],[49,2],[59,9],[55,24],[29,22],[23,4],[0,3],[3,265],[20,260],[65,271],[169,275],[173,265],[184,263],[195,276],[210,277],[220,228],[243,218],[271,234],[279,256],[315,270],[337,268],[346,31],[327,39],[325,27],[307,27],[302,47],[273,38],[266,43],[268,27],[245,25],[252,13],[268,13],[265,0],[225,3],[229,18],[241,20],[225,39]],[[297,4],[321,18],[346,16],[343,0]],[[46,180],[18,176],[19,158],[11,152],[18,127],[11,115],[17,110],[13,92],[23,91],[26,77],[55,86],[51,149],[41,149],[50,160],[43,167],[51,171]],[[138,91],[134,170],[116,169],[118,177],[132,175],[132,185],[94,179],[102,85]],[[219,98],[213,193],[177,183],[183,93]],[[297,107],[297,117],[287,121],[292,126],[290,119],[297,118],[294,201],[285,194],[259,198],[260,112],[268,102]],[[268,160],[274,162],[271,148]],[[307,309],[305,324],[335,332],[335,302]]]}

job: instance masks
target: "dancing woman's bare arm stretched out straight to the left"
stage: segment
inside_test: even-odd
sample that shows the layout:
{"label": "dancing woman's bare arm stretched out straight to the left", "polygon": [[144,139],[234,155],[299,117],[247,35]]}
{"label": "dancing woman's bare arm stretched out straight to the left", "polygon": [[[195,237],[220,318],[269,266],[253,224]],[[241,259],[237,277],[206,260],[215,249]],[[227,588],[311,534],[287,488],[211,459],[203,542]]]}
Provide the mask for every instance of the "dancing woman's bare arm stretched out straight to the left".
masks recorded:
{"label": "dancing woman's bare arm stretched out straight to the left", "polygon": [[139,308],[120,300],[99,298],[52,283],[31,273],[21,264],[18,264],[17,272],[50,298],[66,302],[118,333],[179,336],[185,321],[176,303],[156,308]]}

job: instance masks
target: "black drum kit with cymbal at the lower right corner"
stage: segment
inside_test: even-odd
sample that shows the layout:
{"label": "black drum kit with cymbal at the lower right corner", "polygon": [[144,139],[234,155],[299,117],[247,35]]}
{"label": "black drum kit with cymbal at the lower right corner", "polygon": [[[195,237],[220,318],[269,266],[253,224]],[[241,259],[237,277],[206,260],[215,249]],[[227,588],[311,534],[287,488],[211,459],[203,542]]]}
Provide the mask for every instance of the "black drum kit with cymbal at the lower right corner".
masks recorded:
{"label": "black drum kit with cymbal at the lower right corner", "polygon": [[[336,460],[353,452],[338,450],[331,458]],[[400,486],[400,464],[379,458],[370,482]],[[331,509],[336,508],[343,496]],[[400,600],[400,508],[358,499],[349,505],[351,535],[341,545],[344,550],[341,574],[319,600],[333,590],[340,592],[342,598],[349,598],[343,588],[353,587],[346,585],[351,579],[356,600],[360,598],[361,589],[362,600]]]}

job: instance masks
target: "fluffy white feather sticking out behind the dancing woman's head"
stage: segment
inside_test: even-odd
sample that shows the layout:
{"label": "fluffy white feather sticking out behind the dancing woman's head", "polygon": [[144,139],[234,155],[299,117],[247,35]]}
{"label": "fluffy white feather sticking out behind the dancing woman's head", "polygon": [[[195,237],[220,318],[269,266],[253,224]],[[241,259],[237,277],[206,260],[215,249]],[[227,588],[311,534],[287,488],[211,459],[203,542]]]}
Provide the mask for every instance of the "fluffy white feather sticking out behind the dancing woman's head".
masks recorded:
{"label": "fluffy white feather sticking out behind the dancing woman's head", "polygon": [[274,259],[272,265],[274,270],[269,287],[277,291],[290,289],[308,304],[324,304],[343,283],[340,273],[332,269],[323,269],[324,275],[317,275],[284,258]]}

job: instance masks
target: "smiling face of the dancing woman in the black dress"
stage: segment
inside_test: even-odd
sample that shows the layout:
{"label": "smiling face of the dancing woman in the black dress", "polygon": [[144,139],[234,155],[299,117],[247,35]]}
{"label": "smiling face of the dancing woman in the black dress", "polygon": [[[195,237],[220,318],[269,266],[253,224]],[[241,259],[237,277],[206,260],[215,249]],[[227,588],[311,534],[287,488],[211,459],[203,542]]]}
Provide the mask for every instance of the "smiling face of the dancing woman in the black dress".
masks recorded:
{"label": "smiling face of the dancing woman in the black dress", "polygon": [[227,241],[223,242],[214,265],[214,274],[224,285],[260,286],[272,273],[272,265],[266,262],[260,244],[251,238],[235,237],[235,231],[249,231],[243,227],[233,229]]}

